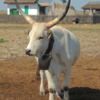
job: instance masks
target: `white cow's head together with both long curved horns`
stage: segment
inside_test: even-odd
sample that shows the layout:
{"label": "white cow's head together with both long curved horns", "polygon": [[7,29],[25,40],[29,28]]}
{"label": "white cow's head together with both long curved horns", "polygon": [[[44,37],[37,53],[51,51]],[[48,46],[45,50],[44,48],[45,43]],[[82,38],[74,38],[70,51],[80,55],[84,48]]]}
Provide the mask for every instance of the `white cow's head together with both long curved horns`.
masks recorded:
{"label": "white cow's head together with both long curved horns", "polygon": [[49,37],[52,34],[52,32],[50,31],[50,28],[58,24],[66,16],[66,13],[68,12],[69,5],[70,5],[70,0],[68,1],[66,9],[62,13],[62,15],[48,23],[35,22],[30,16],[26,15],[21,10],[21,8],[19,7],[17,3],[17,0],[15,0],[15,3],[21,15],[32,26],[32,29],[28,34],[29,44],[27,48],[25,49],[25,52],[28,55],[42,57],[42,55],[45,53],[46,49],[48,48]]}

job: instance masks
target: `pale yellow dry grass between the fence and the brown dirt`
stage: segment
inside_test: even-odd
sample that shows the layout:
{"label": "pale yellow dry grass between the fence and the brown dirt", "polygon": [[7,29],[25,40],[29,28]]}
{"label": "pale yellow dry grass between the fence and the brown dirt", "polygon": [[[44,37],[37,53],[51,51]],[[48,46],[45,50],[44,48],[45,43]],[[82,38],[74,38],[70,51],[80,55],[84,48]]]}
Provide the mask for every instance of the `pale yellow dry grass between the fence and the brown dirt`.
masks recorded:
{"label": "pale yellow dry grass between the fence and the brown dirt", "polygon": [[[60,25],[79,38],[82,57],[100,55],[100,24]],[[0,24],[0,38],[8,41],[0,44],[0,58],[26,56],[24,50],[29,40],[24,33],[29,29],[29,24]]]}

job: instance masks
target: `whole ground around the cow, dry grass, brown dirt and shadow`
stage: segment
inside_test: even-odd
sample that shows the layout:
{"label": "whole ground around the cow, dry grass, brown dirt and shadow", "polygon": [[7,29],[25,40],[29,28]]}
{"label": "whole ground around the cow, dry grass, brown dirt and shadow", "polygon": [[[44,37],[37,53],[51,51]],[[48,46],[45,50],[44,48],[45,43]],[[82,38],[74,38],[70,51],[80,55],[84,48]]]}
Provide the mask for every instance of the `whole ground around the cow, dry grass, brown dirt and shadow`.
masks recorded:
{"label": "whole ground around the cow, dry grass, brown dirt and shadow", "polygon": [[[61,26],[73,32],[81,44],[70,78],[71,100],[100,100],[100,24]],[[0,100],[48,100],[46,78],[46,95],[40,96],[40,83],[35,80],[37,63],[24,52],[30,29],[28,24],[0,24]],[[63,75],[60,87],[62,80]],[[55,100],[60,99],[55,95]]]}

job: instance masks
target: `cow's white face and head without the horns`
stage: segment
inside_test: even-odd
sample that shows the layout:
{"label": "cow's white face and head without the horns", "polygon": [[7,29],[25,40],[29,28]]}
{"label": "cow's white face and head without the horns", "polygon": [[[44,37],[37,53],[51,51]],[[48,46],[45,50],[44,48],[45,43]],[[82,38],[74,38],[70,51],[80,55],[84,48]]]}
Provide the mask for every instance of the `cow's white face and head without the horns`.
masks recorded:
{"label": "cow's white face and head without the horns", "polygon": [[28,34],[29,44],[25,49],[26,54],[42,57],[48,48],[50,32],[44,23],[34,23]]}

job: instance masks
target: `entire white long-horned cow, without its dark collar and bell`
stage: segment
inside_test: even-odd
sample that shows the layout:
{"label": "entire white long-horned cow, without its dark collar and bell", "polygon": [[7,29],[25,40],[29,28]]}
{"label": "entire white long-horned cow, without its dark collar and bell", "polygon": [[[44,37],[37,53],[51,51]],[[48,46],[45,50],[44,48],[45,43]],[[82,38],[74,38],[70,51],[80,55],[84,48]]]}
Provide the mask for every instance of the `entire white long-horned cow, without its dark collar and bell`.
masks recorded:
{"label": "entire white long-horned cow, without its dark collar and bell", "polygon": [[[63,100],[69,100],[69,79],[72,66],[80,54],[80,43],[78,38],[72,32],[61,26],[55,25],[66,16],[70,6],[70,0],[68,0],[63,14],[58,16],[53,21],[47,23],[35,22],[30,16],[26,15],[21,10],[17,0],[15,0],[15,3],[21,15],[32,25],[32,29],[28,34],[29,44],[25,49],[27,55],[35,56],[37,62],[39,63],[39,59],[42,59],[46,50],[48,49],[51,37],[54,40],[54,43],[52,44],[52,50],[48,54],[51,56],[49,59],[50,64],[48,64],[49,68],[48,70],[40,70],[40,95],[45,95],[44,77],[46,74],[48,81],[49,100],[54,100],[55,91],[58,97],[62,98]],[[64,95],[62,95],[58,83],[61,73],[64,73],[64,80],[62,83]]]}

